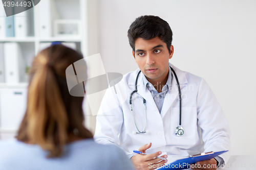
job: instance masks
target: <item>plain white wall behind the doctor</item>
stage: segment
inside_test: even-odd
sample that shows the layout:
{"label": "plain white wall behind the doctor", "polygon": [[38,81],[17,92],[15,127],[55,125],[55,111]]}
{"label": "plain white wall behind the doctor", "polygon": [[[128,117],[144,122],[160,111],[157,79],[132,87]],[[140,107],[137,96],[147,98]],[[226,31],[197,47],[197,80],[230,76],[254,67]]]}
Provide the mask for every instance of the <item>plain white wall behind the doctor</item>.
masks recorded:
{"label": "plain white wall behind the doctor", "polygon": [[127,30],[140,15],[160,16],[174,33],[170,62],[203,77],[215,92],[232,131],[231,154],[255,154],[255,6],[249,0],[99,0],[105,70],[126,74],[138,68]]}

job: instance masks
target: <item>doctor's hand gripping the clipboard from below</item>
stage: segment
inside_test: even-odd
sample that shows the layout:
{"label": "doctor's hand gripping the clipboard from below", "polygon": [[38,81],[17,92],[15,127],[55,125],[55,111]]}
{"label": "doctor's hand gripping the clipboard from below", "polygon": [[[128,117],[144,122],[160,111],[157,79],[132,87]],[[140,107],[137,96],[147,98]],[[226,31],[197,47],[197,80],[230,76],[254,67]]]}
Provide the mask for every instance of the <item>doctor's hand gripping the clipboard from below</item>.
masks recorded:
{"label": "doctor's hand gripping the clipboard from below", "polygon": [[193,170],[216,170],[217,169],[217,160],[212,158],[210,160],[199,161],[196,164],[191,164],[190,168]]}

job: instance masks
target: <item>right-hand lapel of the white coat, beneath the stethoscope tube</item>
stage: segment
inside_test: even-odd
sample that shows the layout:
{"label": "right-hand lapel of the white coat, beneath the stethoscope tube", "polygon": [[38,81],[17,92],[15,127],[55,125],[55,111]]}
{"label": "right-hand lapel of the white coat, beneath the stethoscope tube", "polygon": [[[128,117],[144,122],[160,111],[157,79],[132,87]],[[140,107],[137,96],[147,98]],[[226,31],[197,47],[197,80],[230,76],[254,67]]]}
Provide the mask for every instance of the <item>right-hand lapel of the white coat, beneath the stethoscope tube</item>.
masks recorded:
{"label": "right-hand lapel of the white coat, beneath the stethoscope tube", "polygon": [[[187,83],[187,78],[186,78],[185,72],[178,69],[177,67],[175,67],[174,65],[172,65],[170,63],[169,63],[169,65],[175,70],[176,75],[177,75],[178,80],[179,80],[179,84],[180,84],[181,89],[182,89],[182,84]],[[179,98],[179,96],[178,96],[179,88],[178,88],[178,84],[176,82],[173,71],[172,71],[172,86],[168,87],[168,88],[169,88],[169,92],[167,92],[166,95],[165,95],[162,110],[161,110],[161,116],[162,117],[169,110],[170,106],[173,105],[174,101],[176,101]],[[181,94],[182,94],[182,90],[181,90]]]}

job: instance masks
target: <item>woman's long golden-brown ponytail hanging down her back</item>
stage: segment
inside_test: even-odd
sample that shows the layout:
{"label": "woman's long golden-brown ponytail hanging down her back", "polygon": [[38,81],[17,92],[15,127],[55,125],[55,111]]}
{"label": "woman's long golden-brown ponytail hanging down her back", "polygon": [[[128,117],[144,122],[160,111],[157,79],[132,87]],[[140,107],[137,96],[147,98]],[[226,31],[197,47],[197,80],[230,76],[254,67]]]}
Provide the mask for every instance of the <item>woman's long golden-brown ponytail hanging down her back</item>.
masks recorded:
{"label": "woman's long golden-brown ponytail hanging down her back", "polygon": [[27,125],[31,143],[50,152],[48,157],[62,153],[67,142],[68,117],[63,105],[54,66],[44,56],[38,56],[40,67],[35,72],[28,90]]}

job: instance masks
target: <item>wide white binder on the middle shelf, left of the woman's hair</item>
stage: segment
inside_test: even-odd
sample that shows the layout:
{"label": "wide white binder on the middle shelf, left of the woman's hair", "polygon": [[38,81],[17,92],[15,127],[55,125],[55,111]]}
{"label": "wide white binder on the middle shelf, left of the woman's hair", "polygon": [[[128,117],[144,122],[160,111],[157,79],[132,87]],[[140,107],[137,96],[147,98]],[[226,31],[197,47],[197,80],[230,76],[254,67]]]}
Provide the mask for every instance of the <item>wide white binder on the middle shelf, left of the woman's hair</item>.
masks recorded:
{"label": "wide white binder on the middle shelf, left of the woman's hair", "polygon": [[25,62],[17,42],[4,43],[5,81],[18,84],[25,79]]}

